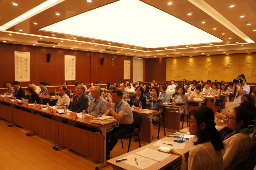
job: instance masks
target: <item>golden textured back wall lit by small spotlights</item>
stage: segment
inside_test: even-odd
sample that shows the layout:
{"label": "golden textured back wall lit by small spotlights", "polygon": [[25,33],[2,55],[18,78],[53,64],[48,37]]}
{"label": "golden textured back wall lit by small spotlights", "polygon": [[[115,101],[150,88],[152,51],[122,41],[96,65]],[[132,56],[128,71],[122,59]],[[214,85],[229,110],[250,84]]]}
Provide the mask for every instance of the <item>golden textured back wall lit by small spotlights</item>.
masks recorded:
{"label": "golden textured back wall lit by small spotlights", "polygon": [[244,74],[247,82],[256,82],[255,64],[256,54],[167,58],[166,80],[229,82]]}

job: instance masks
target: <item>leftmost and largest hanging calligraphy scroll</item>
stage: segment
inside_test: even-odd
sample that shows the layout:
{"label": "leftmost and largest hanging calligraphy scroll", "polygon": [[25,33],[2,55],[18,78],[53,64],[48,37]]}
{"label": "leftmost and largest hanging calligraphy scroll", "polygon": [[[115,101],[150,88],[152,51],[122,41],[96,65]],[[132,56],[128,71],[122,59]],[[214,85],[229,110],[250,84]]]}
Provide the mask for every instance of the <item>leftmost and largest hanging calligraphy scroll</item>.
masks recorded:
{"label": "leftmost and largest hanging calligraphy scroll", "polygon": [[14,52],[15,81],[30,81],[30,53]]}

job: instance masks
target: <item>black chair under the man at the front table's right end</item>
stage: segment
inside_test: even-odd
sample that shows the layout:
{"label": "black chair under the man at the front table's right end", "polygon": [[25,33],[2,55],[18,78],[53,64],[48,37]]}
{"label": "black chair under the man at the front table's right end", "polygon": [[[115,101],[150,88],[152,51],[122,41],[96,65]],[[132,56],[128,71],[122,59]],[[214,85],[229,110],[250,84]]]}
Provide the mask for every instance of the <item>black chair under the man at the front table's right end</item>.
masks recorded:
{"label": "black chair under the man at the front table's right end", "polygon": [[127,135],[125,135],[125,136],[123,136],[121,138],[121,143],[122,143],[122,147],[123,148],[124,148],[124,144],[123,144],[123,140],[122,139],[130,138],[127,152],[129,152],[129,150],[130,150],[131,138],[133,136],[137,136],[138,137],[139,147],[141,147],[140,146],[140,139],[139,139],[139,131],[140,131],[141,123],[142,123],[142,114],[140,112],[134,111],[134,110],[132,110],[132,114],[133,114],[134,128],[138,128],[138,132],[133,131],[132,133],[129,133],[129,134],[127,134]]}

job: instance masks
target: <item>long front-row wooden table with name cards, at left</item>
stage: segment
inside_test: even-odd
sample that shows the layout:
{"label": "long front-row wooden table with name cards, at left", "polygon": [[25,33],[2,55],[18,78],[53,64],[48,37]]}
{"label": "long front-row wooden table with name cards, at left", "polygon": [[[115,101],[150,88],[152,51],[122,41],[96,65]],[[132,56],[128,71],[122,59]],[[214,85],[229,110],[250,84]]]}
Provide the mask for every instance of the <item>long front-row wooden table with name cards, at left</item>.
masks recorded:
{"label": "long front-row wooden table with name cards, at left", "polygon": [[[30,112],[21,110],[19,109],[20,107]],[[64,116],[64,114],[49,113],[46,110],[35,109],[32,106],[21,106],[14,104],[14,102],[3,100],[0,101],[0,110],[1,118],[31,130],[44,138],[72,149],[82,155],[99,161],[100,164],[96,165],[96,167],[101,167],[106,164],[106,131],[109,126],[114,125],[117,121],[106,125],[98,125],[84,122],[79,117],[72,119],[68,116]],[[94,133],[89,130],[43,117],[42,115],[55,116],[57,118],[75,121],[88,127],[97,128],[101,132]],[[93,144],[97,147],[88,147],[86,144]]]}

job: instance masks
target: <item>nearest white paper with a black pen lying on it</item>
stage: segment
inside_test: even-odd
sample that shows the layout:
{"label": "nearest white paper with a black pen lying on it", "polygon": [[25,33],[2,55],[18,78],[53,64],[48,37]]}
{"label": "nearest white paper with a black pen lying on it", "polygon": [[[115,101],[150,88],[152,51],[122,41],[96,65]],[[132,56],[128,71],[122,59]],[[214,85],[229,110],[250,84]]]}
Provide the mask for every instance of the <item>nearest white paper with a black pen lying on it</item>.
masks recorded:
{"label": "nearest white paper with a black pen lying on it", "polygon": [[[127,163],[128,165],[134,166],[136,168],[139,169],[145,169],[151,165],[153,165],[154,163],[156,163],[156,161],[154,160],[150,160],[135,154],[130,154],[127,157],[127,160],[122,160],[122,162]],[[136,164],[135,158],[138,161],[138,165]]]}

